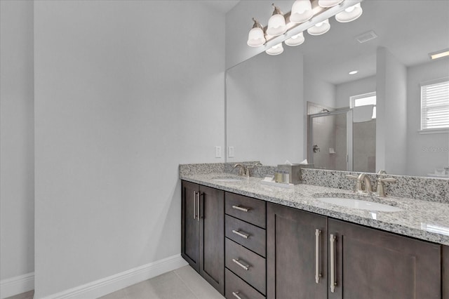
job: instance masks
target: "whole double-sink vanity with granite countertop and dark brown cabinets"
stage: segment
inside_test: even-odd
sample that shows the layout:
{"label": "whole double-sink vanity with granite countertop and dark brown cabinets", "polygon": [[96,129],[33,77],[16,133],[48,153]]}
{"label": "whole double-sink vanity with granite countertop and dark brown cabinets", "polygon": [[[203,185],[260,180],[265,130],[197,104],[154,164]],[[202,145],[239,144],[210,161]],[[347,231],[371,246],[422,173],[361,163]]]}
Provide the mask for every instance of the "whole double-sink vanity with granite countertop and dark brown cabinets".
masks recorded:
{"label": "whole double-sink vanity with granite countertop and dark brown cabinets", "polygon": [[281,188],[181,165],[182,257],[226,298],[449,298],[449,194],[378,197],[304,171]]}

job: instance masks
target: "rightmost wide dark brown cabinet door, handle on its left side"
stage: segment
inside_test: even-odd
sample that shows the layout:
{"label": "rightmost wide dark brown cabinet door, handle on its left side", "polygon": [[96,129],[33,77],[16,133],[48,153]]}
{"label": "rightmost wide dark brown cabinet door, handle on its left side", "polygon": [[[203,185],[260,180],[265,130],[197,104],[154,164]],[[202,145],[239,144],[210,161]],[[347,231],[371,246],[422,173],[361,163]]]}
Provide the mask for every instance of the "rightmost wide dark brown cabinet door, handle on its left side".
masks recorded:
{"label": "rightmost wide dark brown cabinet door, handle on its left side", "polygon": [[330,299],[441,298],[441,246],[332,219],[328,232]]}

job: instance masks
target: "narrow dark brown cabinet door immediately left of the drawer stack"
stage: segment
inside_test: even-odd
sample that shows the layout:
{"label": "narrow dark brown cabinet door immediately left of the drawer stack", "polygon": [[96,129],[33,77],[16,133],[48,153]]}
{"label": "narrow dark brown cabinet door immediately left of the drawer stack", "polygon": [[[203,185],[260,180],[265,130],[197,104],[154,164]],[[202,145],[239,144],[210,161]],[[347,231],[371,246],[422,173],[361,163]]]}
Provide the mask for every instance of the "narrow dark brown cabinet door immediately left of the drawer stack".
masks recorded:
{"label": "narrow dark brown cabinet door immediately left of the drawer stack", "polygon": [[225,192],[200,186],[200,274],[225,294]]}

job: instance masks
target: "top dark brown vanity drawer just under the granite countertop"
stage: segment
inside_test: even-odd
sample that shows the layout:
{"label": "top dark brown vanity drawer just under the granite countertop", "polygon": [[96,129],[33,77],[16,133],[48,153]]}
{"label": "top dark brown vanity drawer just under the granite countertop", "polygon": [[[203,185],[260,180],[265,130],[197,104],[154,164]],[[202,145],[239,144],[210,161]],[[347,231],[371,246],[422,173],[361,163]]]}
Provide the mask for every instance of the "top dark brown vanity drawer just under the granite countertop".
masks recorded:
{"label": "top dark brown vanity drawer just under the granite countertop", "polygon": [[266,202],[226,192],[225,213],[259,227],[266,227]]}

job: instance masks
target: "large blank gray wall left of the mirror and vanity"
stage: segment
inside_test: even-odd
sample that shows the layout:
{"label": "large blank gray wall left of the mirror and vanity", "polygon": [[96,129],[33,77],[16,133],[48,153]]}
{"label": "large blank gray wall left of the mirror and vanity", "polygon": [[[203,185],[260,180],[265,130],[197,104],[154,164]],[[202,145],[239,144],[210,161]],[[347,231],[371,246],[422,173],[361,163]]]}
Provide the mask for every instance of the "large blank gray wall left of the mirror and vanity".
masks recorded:
{"label": "large blank gray wall left of the mirror and vanity", "polygon": [[35,2],[35,298],[180,253],[177,166],[224,161],[224,36],[201,1]]}

